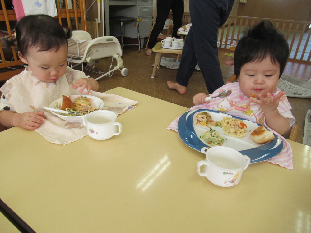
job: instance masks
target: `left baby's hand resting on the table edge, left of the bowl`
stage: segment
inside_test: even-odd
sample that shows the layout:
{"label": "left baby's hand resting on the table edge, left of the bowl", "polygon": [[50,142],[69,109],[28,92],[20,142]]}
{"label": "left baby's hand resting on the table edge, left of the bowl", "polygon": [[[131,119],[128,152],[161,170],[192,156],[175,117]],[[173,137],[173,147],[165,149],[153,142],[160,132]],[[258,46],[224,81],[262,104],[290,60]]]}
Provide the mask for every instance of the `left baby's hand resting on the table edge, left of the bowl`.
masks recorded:
{"label": "left baby's hand resting on the table edge, left of the bowl", "polygon": [[44,122],[43,114],[44,112],[24,112],[21,114],[16,113],[14,117],[16,117],[17,126],[21,126],[27,130],[35,130]]}

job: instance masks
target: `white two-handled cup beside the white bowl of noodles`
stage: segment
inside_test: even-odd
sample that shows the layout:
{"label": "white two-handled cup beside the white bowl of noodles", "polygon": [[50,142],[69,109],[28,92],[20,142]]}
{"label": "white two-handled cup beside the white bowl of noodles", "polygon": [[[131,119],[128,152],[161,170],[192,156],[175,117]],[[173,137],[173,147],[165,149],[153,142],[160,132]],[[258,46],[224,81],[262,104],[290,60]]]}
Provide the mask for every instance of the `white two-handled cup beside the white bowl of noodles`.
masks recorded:
{"label": "white two-handled cup beside the white bowl of noodles", "polygon": [[[114,135],[119,135],[122,125],[117,120],[117,114],[108,110],[97,110],[82,117],[87,133],[96,140],[106,140]],[[119,130],[117,131],[117,127]]]}

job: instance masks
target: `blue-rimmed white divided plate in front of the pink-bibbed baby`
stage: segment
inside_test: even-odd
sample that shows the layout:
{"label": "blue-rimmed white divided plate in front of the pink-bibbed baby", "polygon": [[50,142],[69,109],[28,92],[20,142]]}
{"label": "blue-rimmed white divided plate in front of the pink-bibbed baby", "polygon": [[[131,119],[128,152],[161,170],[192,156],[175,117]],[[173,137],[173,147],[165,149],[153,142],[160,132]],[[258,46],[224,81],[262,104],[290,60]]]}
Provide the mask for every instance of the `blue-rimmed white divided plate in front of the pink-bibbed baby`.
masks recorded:
{"label": "blue-rimmed white divided plate in front of the pink-bibbed baby", "polygon": [[243,155],[247,155],[251,159],[251,163],[261,162],[272,158],[280,153],[283,148],[283,142],[276,134],[274,134],[274,139],[271,142],[267,142],[265,144],[255,143],[251,139],[250,133],[260,126],[257,123],[242,119],[240,117],[234,117],[223,112],[198,109],[195,111],[185,112],[181,115],[178,121],[178,133],[180,138],[186,145],[197,151],[205,153],[207,149],[211,147],[207,144],[207,142],[200,139],[200,136],[209,130],[209,128],[207,126],[196,124],[196,115],[198,112],[208,112],[215,121],[221,121],[222,117],[233,117],[242,120],[247,125],[246,135],[242,138],[225,135],[224,131],[222,131],[222,128],[220,127],[211,126],[211,128],[219,132],[221,137],[227,139],[222,144],[223,146],[234,148]]}

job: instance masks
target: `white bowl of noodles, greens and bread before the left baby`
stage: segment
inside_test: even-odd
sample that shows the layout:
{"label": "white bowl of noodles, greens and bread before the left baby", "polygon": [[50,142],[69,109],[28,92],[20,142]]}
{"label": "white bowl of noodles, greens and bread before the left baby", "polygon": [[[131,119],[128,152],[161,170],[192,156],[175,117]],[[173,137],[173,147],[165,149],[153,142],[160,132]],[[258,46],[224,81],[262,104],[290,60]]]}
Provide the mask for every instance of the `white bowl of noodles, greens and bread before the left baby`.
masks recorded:
{"label": "white bowl of noodles, greens and bread before the left baby", "polygon": [[68,111],[68,114],[51,111],[65,121],[81,122],[83,115],[102,109],[104,101],[92,95],[70,95],[53,101],[49,107]]}

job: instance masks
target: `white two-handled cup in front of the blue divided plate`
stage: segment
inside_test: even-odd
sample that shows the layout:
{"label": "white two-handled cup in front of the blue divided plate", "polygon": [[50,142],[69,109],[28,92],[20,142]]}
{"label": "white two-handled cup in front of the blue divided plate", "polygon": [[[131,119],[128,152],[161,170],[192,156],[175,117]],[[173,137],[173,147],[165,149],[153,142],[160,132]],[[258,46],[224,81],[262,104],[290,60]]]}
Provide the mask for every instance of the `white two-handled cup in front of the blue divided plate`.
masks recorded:
{"label": "white two-handled cup in front of the blue divided plate", "polygon": [[[207,150],[206,159],[197,163],[197,173],[211,183],[230,187],[239,183],[242,172],[248,167],[250,158],[229,147],[217,146]],[[203,172],[200,167],[204,165]]]}

